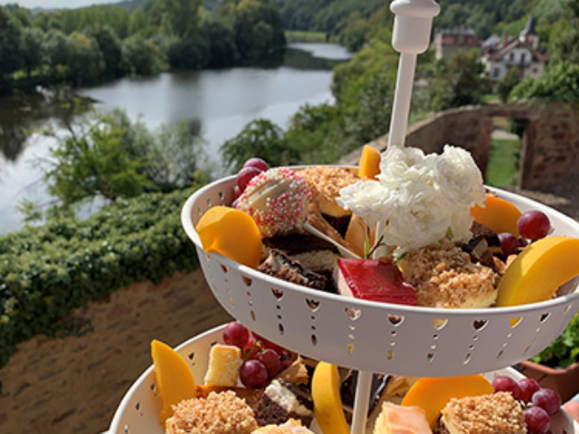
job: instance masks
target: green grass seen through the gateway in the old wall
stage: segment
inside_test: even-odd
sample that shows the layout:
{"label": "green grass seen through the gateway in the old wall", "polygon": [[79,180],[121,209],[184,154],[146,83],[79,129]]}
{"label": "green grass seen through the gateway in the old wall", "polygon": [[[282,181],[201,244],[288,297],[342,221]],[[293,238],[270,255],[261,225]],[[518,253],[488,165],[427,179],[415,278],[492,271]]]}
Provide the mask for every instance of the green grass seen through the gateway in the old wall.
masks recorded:
{"label": "green grass seen through the gateway in the old wall", "polygon": [[493,138],[490,142],[486,184],[496,187],[516,185],[521,141]]}

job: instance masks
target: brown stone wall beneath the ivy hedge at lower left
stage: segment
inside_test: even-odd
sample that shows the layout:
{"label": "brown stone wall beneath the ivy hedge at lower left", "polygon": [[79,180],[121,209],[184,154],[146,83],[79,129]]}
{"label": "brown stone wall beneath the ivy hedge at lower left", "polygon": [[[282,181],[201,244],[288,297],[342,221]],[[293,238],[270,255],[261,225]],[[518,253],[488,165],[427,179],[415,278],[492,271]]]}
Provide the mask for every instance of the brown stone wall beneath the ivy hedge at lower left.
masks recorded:
{"label": "brown stone wall beneath the ivy hedge at lower left", "polygon": [[0,432],[98,434],[151,364],[153,339],[176,346],[231,318],[201,270],[160,285],[138,283],[74,313],[90,319],[81,337],[37,336],[0,370]]}

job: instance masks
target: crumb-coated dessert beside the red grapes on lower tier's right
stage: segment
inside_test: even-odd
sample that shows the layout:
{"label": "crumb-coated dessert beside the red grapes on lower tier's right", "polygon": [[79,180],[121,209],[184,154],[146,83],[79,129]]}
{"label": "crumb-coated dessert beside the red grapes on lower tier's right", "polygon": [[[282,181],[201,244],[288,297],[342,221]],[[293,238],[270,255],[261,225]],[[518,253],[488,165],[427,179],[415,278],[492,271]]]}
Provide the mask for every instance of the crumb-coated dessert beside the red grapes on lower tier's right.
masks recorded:
{"label": "crumb-coated dessert beside the red grapes on lower tier's right", "polygon": [[441,423],[449,434],[527,433],[521,405],[509,392],[452,399],[442,410]]}

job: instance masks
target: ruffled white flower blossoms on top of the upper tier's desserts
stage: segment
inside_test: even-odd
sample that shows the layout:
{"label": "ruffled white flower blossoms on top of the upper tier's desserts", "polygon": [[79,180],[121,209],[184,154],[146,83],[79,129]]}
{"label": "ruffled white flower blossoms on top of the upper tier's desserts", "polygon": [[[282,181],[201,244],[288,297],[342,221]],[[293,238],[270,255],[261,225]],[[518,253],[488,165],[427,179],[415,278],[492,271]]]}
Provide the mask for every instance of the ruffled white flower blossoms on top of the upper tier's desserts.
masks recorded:
{"label": "ruffled white flower blossoms on top of the upper tier's desserts", "polygon": [[382,222],[387,246],[405,251],[444,238],[469,240],[470,207],[482,205],[485,189],[468,152],[447,145],[441,155],[424,156],[417,148],[393,146],[380,168],[378,181],[343,188],[337,203],[370,226]]}

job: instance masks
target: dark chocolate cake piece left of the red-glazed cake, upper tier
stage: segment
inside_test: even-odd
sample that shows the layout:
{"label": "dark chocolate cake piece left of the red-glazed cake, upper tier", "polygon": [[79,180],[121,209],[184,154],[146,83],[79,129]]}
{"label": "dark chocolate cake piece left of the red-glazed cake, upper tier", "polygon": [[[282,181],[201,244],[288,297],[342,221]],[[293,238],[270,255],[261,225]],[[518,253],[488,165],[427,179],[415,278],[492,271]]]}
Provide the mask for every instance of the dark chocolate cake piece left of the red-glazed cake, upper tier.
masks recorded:
{"label": "dark chocolate cake piece left of the red-glazed cake, upper tier", "polygon": [[297,260],[289,259],[280,250],[270,250],[268,258],[261,263],[258,269],[274,278],[280,278],[304,287],[326,288],[326,277],[306,269]]}

